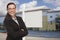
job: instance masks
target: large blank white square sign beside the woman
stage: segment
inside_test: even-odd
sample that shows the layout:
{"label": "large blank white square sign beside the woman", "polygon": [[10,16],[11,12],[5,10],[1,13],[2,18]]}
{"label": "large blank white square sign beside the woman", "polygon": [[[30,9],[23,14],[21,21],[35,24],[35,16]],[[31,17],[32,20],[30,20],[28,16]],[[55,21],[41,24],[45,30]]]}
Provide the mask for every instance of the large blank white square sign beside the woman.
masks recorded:
{"label": "large blank white square sign beside the woman", "polygon": [[42,27],[42,11],[25,12],[24,15],[27,27]]}

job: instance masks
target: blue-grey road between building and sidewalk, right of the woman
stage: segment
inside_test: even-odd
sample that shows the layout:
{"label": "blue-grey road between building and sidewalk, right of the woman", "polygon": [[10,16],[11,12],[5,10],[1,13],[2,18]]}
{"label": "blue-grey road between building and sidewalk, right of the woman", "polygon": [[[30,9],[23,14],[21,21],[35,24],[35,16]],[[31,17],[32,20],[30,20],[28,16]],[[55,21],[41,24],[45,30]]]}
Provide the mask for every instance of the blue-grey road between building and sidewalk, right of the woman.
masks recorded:
{"label": "blue-grey road between building and sidewalk, right of the woman", "polygon": [[60,32],[59,31],[31,31],[29,30],[28,36],[32,37],[45,37],[45,38],[60,38]]}

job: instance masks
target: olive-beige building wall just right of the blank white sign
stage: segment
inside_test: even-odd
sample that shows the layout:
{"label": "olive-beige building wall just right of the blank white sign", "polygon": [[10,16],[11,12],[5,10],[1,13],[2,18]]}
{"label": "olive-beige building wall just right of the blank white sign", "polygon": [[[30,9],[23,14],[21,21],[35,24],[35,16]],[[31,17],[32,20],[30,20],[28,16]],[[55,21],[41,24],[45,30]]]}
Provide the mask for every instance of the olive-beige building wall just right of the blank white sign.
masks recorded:
{"label": "olive-beige building wall just right of the blank white sign", "polygon": [[42,26],[43,27],[40,28],[39,30],[42,30],[42,31],[54,31],[54,30],[56,30],[56,23],[55,23],[55,21],[48,22],[47,13],[45,13],[45,14],[44,14],[45,16],[42,16],[42,24],[43,24]]}

